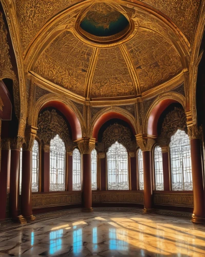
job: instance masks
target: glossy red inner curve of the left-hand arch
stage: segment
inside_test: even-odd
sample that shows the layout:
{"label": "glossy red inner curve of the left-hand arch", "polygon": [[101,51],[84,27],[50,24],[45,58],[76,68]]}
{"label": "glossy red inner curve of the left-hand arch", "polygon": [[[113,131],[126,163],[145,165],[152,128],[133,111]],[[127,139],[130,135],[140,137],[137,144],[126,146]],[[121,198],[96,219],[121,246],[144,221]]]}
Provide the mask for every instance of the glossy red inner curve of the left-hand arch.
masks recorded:
{"label": "glossy red inner curve of the left-hand arch", "polygon": [[60,101],[50,101],[44,104],[41,110],[46,107],[55,107],[66,117],[66,119],[68,120],[71,126],[73,141],[82,138],[81,124],[76,114],[72,111],[72,109],[69,106],[67,106],[65,103],[62,103]]}

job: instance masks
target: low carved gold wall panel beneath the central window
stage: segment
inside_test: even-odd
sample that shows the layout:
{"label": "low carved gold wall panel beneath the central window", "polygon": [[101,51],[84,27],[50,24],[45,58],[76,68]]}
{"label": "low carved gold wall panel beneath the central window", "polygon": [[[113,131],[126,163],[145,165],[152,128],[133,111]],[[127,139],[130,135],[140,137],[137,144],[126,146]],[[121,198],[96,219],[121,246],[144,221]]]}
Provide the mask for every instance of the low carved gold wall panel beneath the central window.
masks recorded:
{"label": "low carved gold wall panel beneath the central window", "polygon": [[93,191],[92,203],[144,204],[144,194],[136,191]]}

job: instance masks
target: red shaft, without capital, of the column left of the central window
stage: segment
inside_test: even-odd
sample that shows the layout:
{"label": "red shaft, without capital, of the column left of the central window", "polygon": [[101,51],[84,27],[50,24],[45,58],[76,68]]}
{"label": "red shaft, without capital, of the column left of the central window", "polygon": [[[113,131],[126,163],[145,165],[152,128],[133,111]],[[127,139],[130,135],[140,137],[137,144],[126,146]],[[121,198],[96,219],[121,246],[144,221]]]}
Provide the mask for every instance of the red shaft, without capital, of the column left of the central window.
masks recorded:
{"label": "red shaft, without capital, of the column left of the central window", "polygon": [[93,211],[91,187],[91,154],[83,154],[83,206],[84,211]]}

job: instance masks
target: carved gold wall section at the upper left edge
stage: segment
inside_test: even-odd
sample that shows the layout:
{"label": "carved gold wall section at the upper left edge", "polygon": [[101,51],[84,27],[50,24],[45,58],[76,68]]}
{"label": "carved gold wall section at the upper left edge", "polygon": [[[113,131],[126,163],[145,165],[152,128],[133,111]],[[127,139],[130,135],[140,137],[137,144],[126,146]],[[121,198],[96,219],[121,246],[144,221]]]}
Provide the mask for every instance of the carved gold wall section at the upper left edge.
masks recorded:
{"label": "carved gold wall section at the upper left edge", "polygon": [[14,72],[12,70],[11,60],[9,56],[9,45],[7,42],[7,29],[4,24],[2,13],[0,12],[0,80],[4,78],[15,78]]}

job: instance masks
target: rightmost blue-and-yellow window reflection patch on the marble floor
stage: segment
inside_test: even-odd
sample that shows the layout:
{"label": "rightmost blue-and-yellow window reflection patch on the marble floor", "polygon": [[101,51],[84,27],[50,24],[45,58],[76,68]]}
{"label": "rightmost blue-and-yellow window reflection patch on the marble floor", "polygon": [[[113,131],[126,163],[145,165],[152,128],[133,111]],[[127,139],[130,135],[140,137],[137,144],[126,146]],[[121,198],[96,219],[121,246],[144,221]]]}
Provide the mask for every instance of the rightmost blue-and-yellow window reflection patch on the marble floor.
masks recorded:
{"label": "rightmost blue-and-yellow window reflection patch on the marble floor", "polygon": [[109,249],[110,250],[128,250],[127,232],[121,229],[109,229]]}

